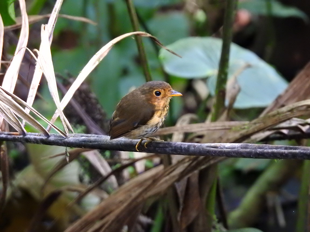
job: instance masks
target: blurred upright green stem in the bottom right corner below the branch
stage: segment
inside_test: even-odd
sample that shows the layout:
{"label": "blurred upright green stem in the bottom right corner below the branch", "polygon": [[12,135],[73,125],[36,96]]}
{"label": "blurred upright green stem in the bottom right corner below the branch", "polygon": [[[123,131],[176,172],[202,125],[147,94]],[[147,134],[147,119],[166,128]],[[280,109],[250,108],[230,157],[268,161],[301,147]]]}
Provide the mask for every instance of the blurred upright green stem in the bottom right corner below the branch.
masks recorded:
{"label": "blurred upright green stem in the bottom right corner below the branch", "polygon": [[[303,174],[298,200],[296,232],[306,231],[309,204],[310,160],[303,161]],[[307,230],[308,231],[308,230]]]}

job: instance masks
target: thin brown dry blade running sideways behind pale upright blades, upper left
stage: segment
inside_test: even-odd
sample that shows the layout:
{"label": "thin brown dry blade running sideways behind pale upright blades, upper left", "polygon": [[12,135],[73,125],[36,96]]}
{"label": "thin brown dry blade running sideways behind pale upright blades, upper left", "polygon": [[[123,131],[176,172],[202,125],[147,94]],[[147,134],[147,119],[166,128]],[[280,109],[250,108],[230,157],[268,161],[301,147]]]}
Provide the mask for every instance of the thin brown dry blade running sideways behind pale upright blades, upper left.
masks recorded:
{"label": "thin brown dry blade running sideways behind pale upright blades, upper left", "polygon": [[[37,23],[37,22],[39,22],[42,19],[50,18],[50,17],[51,17],[51,14],[46,14],[46,15],[28,15],[28,23],[29,24]],[[62,15],[62,14],[59,14],[58,17],[65,18],[65,19],[71,19],[71,20],[74,20],[74,21],[81,21],[81,22],[84,22],[84,23],[92,24],[92,25],[97,25],[96,22],[94,22],[91,19],[87,19],[85,17],[73,16],[73,15]],[[20,17],[16,17],[15,21],[16,21],[16,24],[10,25],[10,26],[6,26],[6,27],[4,27],[4,30],[5,31],[9,31],[9,30],[15,30],[15,29],[20,28],[21,27],[21,18]]]}

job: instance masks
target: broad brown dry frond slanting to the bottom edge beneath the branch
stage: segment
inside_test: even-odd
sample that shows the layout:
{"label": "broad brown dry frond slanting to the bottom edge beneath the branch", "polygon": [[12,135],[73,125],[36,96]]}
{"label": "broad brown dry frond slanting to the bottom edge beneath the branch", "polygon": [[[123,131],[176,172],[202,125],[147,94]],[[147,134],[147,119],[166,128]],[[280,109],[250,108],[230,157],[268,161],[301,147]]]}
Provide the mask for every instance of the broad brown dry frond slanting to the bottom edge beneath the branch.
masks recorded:
{"label": "broad brown dry frond slanting to the bottom edge beneath the branch", "polygon": [[65,232],[119,231],[126,224],[126,218],[131,212],[147,198],[164,194],[174,182],[222,159],[186,157],[165,169],[160,165],[148,170],[125,183]]}

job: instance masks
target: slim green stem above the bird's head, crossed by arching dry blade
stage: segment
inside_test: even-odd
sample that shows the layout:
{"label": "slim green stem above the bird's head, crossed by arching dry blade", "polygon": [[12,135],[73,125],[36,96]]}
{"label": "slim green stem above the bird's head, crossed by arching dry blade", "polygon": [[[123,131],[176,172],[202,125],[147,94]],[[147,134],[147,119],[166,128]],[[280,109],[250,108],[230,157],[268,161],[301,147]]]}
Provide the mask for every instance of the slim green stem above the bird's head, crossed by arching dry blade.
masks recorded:
{"label": "slim green stem above the bird's head, crossed by arching dry blade", "polygon": [[[127,4],[127,8],[128,8],[132,27],[133,27],[134,31],[139,31],[139,21],[138,21],[137,13],[135,11],[135,6],[132,3],[132,0],[126,0],[126,4]],[[151,78],[151,74],[148,70],[148,62],[146,60],[146,54],[145,54],[144,46],[142,43],[142,39],[139,36],[135,36],[135,41],[137,43],[139,57],[141,60],[145,80],[151,81],[152,78]]]}

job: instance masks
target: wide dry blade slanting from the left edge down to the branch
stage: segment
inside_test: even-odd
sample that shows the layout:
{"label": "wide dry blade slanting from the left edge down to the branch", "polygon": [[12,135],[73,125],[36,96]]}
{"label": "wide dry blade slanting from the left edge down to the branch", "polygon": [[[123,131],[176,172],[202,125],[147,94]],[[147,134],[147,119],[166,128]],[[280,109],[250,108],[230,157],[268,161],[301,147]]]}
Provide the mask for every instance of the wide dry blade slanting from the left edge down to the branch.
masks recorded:
{"label": "wide dry blade slanting from the left edge down to the branch", "polygon": [[[18,105],[15,101],[12,100],[11,97],[9,97],[3,90],[0,88],[0,101],[3,104],[5,104],[7,107],[9,107],[9,110],[13,111],[15,114],[17,114],[20,118],[24,119],[26,122],[28,122],[31,126],[39,130],[41,133],[43,133],[46,136],[49,136],[49,133],[45,128],[37,121],[35,120],[29,113],[26,113],[24,109]],[[6,118],[7,120],[7,118]],[[8,121],[8,120],[7,120]],[[9,121],[8,121],[9,122]],[[18,121],[19,122],[19,121]],[[11,122],[9,122],[11,123]],[[20,123],[20,122],[19,122]],[[21,123],[20,123],[21,125]],[[22,126],[22,125],[21,125]],[[23,128],[23,127],[22,127]]]}

